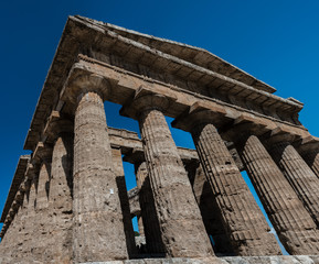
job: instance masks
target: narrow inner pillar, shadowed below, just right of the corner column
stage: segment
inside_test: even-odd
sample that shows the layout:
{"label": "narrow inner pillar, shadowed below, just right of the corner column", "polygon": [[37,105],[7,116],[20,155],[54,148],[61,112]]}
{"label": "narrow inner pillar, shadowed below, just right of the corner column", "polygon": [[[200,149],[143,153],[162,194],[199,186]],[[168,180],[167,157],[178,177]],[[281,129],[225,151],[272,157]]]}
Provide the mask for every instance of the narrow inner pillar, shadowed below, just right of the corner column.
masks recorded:
{"label": "narrow inner pillar, shadowed below, just right of the corner column", "polygon": [[126,183],[125,183],[120,148],[115,148],[115,147],[111,148],[111,158],[113,158],[114,172],[116,176],[120,207],[123,211],[123,221],[124,221],[127,251],[128,251],[128,255],[132,257],[137,255],[137,249],[135,244],[135,235],[134,235],[134,229],[132,229],[132,223],[131,223],[131,218],[130,218],[130,209],[129,209],[129,201],[128,201],[127,188],[126,188]]}

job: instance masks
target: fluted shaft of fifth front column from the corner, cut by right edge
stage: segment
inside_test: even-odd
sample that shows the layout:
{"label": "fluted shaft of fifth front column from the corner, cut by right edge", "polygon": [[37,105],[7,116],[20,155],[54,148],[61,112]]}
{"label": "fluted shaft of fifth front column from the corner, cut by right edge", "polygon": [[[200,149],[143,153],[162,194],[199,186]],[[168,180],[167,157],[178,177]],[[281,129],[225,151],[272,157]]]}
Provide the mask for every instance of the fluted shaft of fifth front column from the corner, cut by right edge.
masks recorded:
{"label": "fluted shaft of fifth front column from the corner, cut by right edge", "polygon": [[319,179],[288,142],[272,144],[270,154],[319,227]]}

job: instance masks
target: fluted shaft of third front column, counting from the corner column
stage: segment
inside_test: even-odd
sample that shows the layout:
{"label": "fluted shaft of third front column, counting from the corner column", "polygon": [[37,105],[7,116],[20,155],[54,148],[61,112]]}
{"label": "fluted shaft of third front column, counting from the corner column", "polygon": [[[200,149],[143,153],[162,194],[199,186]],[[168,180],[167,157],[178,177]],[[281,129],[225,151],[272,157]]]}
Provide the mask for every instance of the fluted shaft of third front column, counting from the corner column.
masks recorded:
{"label": "fluted shaft of third front column, counting from the corner column", "polygon": [[280,254],[275,237],[212,123],[195,125],[192,136],[212,186],[223,224],[238,255]]}

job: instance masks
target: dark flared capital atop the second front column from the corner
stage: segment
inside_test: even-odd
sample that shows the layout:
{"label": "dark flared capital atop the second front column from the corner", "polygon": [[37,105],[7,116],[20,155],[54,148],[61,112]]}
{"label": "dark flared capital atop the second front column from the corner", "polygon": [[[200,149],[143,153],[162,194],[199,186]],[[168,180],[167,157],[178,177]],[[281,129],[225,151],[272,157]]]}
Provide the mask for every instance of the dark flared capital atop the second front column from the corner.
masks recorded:
{"label": "dark flared capital atop the second front column from the corner", "polygon": [[119,113],[137,120],[140,113],[147,110],[164,112],[176,100],[177,98],[158,95],[141,86],[132,98],[123,106]]}

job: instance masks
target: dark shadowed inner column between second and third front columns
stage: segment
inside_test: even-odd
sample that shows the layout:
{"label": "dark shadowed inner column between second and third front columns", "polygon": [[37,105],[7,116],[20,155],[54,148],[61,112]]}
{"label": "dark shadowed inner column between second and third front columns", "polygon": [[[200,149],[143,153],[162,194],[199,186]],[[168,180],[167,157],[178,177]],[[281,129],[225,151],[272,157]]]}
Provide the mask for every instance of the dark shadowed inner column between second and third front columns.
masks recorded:
{"label": "dark shadowed inner column between second and third front columns", "polygon": [[215,196],[201,163],[185,164],[193,193],[201,210],[203,222],[209,235],[212,237],[213,250],[216,255],[234,255],[230,238],[223,227],[222,216]]}

